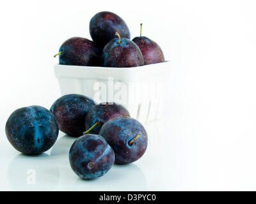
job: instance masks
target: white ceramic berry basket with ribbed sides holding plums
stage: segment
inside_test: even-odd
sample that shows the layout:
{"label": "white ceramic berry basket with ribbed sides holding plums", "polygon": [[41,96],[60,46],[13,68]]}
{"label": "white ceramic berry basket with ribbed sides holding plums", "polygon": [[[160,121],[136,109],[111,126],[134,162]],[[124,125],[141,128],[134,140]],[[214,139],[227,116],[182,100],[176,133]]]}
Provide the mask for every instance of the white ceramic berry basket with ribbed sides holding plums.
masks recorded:
{"label": "white ceramic berry basket with ribbed sides holding plums", "polygon": [[54,71],[61,95],[83,94],[97,103],[121,103],[143,124],[161,117],[170,62],[134,68],[55,64]]}

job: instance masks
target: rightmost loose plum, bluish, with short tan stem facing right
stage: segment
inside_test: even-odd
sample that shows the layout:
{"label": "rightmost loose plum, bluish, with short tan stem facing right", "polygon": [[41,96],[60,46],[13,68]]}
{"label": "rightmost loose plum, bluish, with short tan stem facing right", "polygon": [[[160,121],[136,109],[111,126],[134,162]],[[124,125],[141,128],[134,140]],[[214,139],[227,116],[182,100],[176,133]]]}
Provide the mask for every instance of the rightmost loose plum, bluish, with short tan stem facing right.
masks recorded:
{"label": "rightmost loose plum, bluish, with short tan stem facing right", "polygon": [[115,152],[115,163],[132,163],[145,153],[148,137],[145,128],[131,117],[119,117],[109,120],[100,129],[103,136]]}

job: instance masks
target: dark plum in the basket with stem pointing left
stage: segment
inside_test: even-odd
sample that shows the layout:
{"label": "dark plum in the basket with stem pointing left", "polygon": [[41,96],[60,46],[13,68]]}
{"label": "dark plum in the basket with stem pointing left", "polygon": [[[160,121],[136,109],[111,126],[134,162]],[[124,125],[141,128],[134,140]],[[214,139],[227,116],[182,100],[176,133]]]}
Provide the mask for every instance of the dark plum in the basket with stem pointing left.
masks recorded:
{"label": "dark plum in the basket with stem pointing left", "polygon": [[60,64],[79,66],[100,66],[101,49],[93,41],[74,37],[66,40],[58,54]]}

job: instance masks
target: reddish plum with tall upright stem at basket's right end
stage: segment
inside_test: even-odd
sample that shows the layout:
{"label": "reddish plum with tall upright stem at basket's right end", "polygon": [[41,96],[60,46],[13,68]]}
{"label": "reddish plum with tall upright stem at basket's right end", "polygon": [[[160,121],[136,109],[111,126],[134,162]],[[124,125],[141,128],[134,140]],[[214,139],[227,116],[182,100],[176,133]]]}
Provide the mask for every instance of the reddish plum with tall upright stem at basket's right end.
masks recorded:
{"label": "reddish plum with tall upright stem at basket's right end", "polygon": [[[142,27],[142,24],[140,24]],[[164,54],[159,45],[145,36],[133,38],[132,41],[138,45],[143,55],[144,64],[156,64],[164,62]]]}

